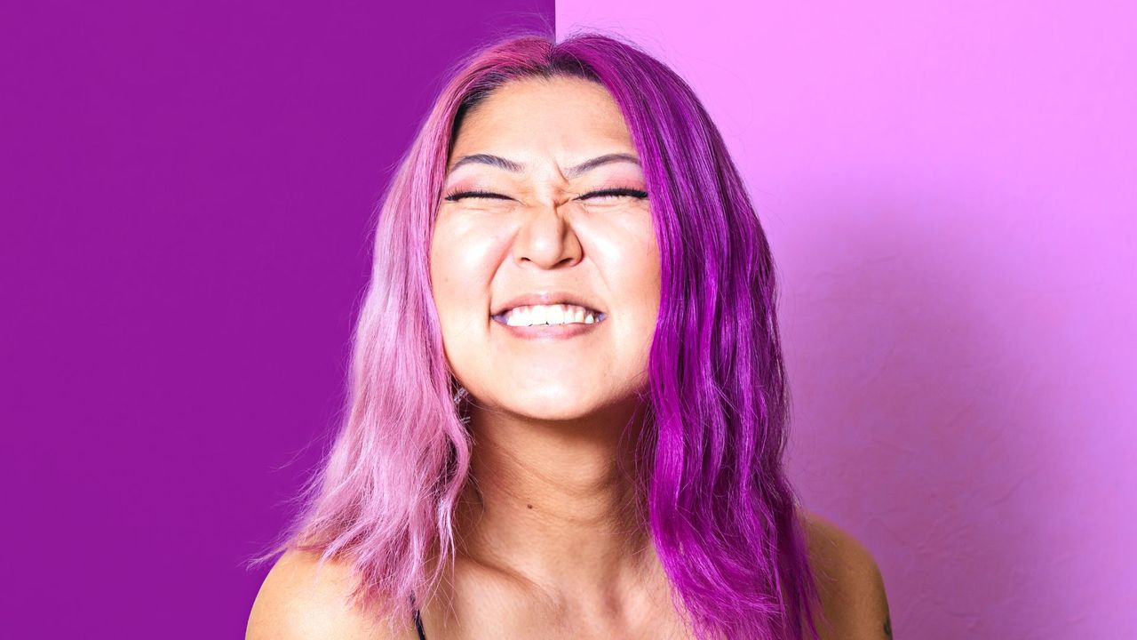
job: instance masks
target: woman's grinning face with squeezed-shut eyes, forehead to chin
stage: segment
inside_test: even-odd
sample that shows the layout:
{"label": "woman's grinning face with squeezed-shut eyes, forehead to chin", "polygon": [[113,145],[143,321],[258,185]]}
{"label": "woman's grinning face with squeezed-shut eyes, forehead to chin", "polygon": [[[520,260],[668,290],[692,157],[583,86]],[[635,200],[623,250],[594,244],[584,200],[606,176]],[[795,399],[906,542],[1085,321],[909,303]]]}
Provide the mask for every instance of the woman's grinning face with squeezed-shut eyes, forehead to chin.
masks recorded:
{"label": "woman's grinning face with squeezed-shut eyes, forehead to chin", "polygon": [[466,114],[430,270],[446,356],[478,405],[572,420],[646,384],[659,255],[638,157],[587,80],[514,81]]}

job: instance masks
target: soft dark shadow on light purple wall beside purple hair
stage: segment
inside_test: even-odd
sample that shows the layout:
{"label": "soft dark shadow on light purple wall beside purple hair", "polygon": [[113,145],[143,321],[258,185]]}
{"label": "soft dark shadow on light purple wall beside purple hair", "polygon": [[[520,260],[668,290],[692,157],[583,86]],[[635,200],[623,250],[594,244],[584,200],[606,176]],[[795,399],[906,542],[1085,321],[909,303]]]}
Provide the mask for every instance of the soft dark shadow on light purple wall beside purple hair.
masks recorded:
{"label": "soft dark shadow on light purple wall beside purple hair", "polygon": [[1067,338],[1011,262],[1034,249],[943,194],[827,189],[773,219],[791,477],[873,552],[898,637],[1064,635],[1082,514],[1047,437]]}

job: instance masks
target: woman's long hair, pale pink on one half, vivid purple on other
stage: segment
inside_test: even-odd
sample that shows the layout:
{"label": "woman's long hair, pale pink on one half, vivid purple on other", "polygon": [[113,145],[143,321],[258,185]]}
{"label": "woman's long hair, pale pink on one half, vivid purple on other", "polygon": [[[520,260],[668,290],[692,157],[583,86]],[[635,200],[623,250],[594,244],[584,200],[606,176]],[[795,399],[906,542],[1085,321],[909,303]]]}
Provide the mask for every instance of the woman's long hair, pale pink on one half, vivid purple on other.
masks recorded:
{"label": "woman's long hair, pale pink on one half, vivid purple on other", "polygon": [[789,391],[770,245],[691,89],[596,33],[509,35],[448,76],[379,208],[347,416],[272,555],[349,559],[352,596],[392,627],[453,568],[472,441],[431,294],[434,214],[463,115],[506,82],[556,76],[611,92],[650,194],[662,290],[637,489],[678,610],[703,640],[797,640],[806,625],[816,639],[818,589],[782,462]]}

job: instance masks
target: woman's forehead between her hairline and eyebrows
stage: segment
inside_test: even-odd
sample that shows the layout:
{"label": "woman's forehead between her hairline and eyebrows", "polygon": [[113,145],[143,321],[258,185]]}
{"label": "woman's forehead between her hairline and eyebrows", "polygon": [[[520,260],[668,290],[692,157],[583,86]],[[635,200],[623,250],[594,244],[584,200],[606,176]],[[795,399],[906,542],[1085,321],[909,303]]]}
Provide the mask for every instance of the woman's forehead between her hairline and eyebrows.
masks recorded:
{"label": "woman's forehead between her hairline and eyebrows", "polygon": [[508,82],[468,112],[451,157],[473,153],[632,150],[631,133],[603,85],[579,77]]}

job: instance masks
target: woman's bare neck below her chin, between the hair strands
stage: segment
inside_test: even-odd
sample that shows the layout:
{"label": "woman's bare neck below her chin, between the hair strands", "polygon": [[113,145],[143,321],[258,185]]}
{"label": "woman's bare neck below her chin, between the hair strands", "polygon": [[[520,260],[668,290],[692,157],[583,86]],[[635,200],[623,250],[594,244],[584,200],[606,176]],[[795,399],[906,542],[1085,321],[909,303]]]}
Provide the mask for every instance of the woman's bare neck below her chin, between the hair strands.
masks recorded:
{"label": "woman's bare neck below her chin, between the hair strands", "polygon": [[613,405],[572,422],[475,408],[471,482],[458,508],[458,552],[553,593],[609,592],[642,582],[654,549],[638,518],[632,460],[617,458],[624,425]]}

